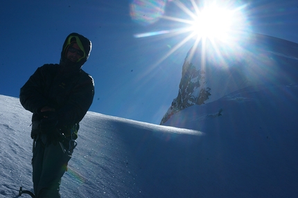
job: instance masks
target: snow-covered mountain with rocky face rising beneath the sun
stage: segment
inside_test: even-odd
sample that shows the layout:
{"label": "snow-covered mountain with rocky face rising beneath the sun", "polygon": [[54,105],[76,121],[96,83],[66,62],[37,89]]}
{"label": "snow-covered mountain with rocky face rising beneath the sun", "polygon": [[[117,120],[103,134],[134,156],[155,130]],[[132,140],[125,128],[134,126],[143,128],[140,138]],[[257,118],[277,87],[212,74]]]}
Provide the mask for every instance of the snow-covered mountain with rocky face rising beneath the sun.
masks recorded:
{"label": "snow-covered mountain with rocky face rising beneath the sun", "polygon": [[298,82],[298,44],[249,33],[238,42],[202,40],[189,50],[182,67],[179,92],[161,120],[254,85]]}

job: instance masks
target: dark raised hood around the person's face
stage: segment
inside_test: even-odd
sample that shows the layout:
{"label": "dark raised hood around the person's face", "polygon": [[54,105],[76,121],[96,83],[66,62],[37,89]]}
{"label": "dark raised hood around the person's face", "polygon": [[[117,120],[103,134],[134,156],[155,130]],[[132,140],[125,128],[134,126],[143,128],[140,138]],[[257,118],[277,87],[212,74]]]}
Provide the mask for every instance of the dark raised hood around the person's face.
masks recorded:
{"label": "dark raised hood around the person's face", "polygon": [[[78,60],[78,62],[71,62],[66,58],[67,49],[73,43],[78,44],[80,49],[84,52],[84,55],[80,58],[80,60]],[[91,41],[78,33],[71,33],[67,36],[62,46],[60,65],[65,67],[71,66],[72,69],[73,67],[76,69],[80,69],[82,65],[85,64],[85,62],[87,61],[90,52]]]}

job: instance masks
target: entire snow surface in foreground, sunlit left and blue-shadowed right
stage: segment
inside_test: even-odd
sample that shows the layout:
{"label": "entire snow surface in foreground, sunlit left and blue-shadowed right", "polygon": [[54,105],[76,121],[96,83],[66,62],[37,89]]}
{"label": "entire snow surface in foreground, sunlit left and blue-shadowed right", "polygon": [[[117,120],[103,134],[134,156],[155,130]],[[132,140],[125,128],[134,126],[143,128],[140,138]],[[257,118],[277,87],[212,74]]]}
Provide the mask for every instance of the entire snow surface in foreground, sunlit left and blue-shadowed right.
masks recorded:
{"label": "entire snow surface in foreground, sunlit left and blue-shadowed right", "polygon": [[[189,129],[89,111],[62,197],[297,197],[297,97],[298,84],[247,87],[166,123]],[[33,190],[31,114],[8,96],[0,109],[0,197],[18,197]]]}

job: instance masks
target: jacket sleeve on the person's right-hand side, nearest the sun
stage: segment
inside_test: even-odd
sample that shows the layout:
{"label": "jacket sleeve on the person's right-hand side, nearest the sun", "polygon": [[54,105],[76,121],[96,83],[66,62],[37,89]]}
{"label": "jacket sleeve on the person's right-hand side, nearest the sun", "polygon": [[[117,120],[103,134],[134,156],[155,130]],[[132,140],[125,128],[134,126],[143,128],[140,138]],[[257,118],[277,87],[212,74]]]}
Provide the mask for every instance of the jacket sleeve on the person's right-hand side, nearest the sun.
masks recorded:
{"label": "jacket sleeve on the person's right-hand side, nearest the sun", "polygon": [[90,75],[80,78],[73,87],[71,96],[58,110],[59,120],[62,125],[74,125],[84,118],[94,98],[94,80]]}

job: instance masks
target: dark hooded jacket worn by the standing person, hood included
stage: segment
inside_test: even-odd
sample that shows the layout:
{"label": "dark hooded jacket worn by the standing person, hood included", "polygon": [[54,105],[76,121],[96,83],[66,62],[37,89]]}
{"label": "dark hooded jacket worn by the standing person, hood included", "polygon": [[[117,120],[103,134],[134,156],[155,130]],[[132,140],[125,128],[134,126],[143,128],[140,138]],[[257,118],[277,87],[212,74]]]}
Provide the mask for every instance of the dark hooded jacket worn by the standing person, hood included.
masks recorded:
{"label": "dark hooded jacket worn by the standing person, hood included", "polygon": [[[69,38],[80,39],[84,47],[84,57],[79,62],[69,62],[64,55],[71,44]],[[39,67],[21,87],[19,100],[21,105],[33,113],[33,131],[31,137],[38,134],[38,124],[43,118],[40,109],[53,107],[58,114],[60,127],[70,129],[82,120],[94,98],[94,80],[81,67],[87,61],[91,42],[72,33],[62,47],[60,64],[44,64]]]}

